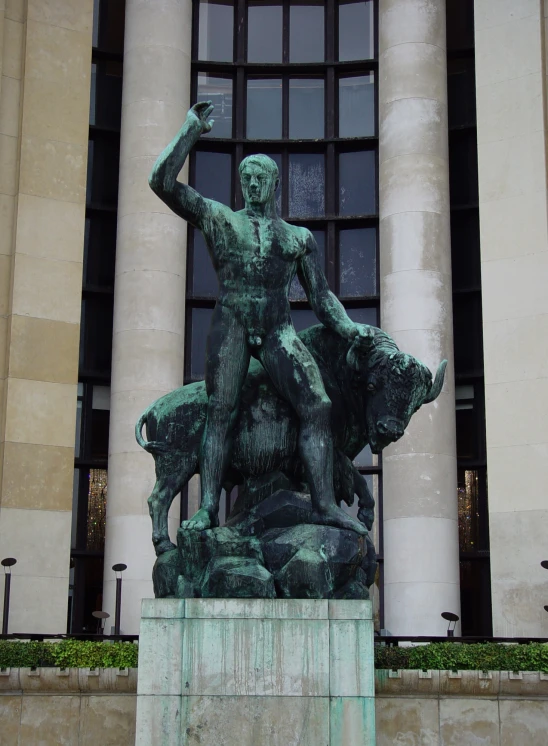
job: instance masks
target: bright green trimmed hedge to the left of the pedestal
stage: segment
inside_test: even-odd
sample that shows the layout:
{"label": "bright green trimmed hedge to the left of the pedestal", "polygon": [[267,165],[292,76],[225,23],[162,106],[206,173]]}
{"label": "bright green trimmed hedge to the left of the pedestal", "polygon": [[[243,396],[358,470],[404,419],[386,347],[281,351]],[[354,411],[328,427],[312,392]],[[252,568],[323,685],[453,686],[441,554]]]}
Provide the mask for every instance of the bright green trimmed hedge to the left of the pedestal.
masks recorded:
{"label": "bright green trimmed hedge to the left of the pedestal", "polygon": [[139,648],[131,642],[0,640],[0,668],[135,668]]}

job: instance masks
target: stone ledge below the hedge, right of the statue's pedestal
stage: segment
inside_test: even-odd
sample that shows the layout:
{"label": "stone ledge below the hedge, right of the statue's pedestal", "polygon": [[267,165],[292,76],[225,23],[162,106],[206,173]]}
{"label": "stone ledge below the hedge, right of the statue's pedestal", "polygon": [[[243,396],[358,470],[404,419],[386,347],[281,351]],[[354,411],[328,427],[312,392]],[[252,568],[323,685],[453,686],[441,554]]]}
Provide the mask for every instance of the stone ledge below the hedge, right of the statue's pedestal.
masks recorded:
{"label": "stone ledge below the hedge, right of the statue's pedestal", "polygon": [[375,671],[378,697],[527,697],[548,699],[548,676],[539,671]]}

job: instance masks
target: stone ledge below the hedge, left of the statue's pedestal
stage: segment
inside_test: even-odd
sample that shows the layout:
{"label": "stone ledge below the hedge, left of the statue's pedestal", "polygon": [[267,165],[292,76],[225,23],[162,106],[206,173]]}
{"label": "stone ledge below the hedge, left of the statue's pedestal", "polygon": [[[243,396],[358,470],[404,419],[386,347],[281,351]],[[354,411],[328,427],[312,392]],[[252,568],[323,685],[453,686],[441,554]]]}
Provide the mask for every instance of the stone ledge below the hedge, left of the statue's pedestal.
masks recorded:
{"label": "stone ledge below the hedge, left of the statue's pedestal", "polygon": [[3,694],[135,694],[136,668],[7,668],[0,671]]}

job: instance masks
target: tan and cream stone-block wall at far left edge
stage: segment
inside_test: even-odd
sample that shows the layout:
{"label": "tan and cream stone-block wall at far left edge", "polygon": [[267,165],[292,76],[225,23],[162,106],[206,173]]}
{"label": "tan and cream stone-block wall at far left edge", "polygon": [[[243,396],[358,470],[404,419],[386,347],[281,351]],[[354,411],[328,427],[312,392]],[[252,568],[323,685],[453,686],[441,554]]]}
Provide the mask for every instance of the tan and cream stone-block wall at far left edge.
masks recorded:
{"label": "tan and cream stone-block wall at far left edge", "polygon": [[0,552],[19,632],[67,619],[92,11],[0,0]]}

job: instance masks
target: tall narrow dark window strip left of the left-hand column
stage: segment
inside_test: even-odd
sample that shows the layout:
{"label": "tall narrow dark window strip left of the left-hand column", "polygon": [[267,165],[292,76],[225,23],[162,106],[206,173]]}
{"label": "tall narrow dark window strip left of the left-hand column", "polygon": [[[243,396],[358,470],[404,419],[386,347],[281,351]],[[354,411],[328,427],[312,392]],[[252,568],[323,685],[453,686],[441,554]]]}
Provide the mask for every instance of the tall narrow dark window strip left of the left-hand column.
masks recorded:
{"label": "tall narrow dark window strip left of the left-hand column", "polygon": [[[102,609],[124,0],[95,0],[68,630]],[[107,627],[108,629],[108,627]]]}

